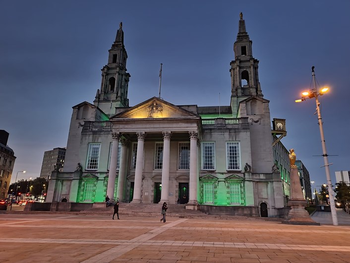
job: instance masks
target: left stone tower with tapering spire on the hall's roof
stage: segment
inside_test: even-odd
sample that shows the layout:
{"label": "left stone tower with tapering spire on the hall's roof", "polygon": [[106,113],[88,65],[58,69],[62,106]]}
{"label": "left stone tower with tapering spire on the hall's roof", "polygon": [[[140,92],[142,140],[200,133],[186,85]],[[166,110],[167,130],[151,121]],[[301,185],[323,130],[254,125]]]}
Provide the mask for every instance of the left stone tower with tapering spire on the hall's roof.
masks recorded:
{"label": "left stone tower with tapering spire on the hall's roof", "polygon": [[127,53],[122,22],[119,24],[116,40],[108,52],[108,64],[101,69],[101,88],[97,91],[94,105],[112,116],[116,113],[116,108],[129,107],[127,91],[130,74],[126,72]]}

